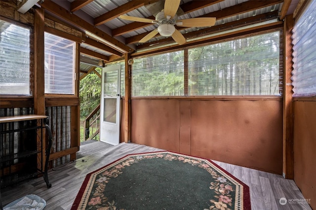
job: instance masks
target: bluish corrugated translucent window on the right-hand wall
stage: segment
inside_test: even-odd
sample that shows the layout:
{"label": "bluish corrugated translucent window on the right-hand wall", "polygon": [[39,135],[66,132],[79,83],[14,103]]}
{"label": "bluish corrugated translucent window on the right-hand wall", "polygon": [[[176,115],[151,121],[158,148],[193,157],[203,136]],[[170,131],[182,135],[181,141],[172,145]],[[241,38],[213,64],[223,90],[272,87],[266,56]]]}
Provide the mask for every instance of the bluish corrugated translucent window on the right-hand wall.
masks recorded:
{"label": "bluish corrugated translucent window on the right-hand wall", "polygon": [[296,21],[293,28],[293,96],[316,95],[316,1]]}

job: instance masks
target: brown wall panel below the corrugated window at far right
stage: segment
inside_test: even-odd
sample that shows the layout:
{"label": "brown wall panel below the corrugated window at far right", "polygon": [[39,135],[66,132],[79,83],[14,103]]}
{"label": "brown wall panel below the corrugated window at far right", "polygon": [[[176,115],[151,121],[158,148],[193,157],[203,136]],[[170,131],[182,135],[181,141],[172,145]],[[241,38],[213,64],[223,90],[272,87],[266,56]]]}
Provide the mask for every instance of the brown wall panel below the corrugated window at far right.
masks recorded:
{"label": "brown wall panel below the corrugated window at far right", "polygon": [[294,102],[294,181],[316,209],[316,101]]}

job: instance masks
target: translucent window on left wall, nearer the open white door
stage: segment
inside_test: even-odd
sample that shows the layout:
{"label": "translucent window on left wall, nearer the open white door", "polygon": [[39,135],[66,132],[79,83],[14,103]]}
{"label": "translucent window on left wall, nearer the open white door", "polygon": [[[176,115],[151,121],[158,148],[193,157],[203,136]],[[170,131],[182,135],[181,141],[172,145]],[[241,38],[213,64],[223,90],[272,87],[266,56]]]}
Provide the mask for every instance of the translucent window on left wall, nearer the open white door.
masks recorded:
{"label": "translucent window on left wall, nearer the open white door", "polygon": [[75,42],[47,33],[45,93],[75,94]]}

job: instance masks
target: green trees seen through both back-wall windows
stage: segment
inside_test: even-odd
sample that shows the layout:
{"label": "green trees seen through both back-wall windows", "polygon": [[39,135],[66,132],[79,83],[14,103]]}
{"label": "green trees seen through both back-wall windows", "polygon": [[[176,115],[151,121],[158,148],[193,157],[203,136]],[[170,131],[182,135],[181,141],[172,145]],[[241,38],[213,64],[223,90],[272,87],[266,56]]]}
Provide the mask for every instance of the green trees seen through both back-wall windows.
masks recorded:
{"label": "green trees seen through both back-wall windows", "polygon": [[188,51],[184,81],[183,51],[135,59],[133,96],[279,95],[279,32],[220,42]]}

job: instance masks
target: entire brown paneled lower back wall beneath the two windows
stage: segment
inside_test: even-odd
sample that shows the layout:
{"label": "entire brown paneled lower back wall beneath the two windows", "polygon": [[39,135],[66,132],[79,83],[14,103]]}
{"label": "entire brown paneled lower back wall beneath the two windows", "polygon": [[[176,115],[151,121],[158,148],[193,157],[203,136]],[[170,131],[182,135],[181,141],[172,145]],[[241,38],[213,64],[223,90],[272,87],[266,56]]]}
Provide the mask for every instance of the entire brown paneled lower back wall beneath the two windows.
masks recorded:
{"label": "entire brown paneled lower back wall beneath the two windows", "polygon": [[278,100],[132,99],[131,141],[282,174]]}

